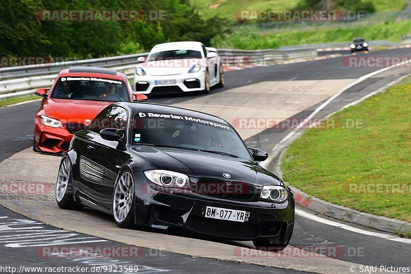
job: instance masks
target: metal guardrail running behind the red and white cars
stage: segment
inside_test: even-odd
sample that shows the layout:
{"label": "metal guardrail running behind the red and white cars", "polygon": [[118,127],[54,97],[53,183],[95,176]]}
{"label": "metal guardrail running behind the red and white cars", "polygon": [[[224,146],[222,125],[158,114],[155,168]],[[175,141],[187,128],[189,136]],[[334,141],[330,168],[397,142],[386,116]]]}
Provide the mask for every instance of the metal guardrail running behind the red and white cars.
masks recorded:
{"label": "metal guardrail running behind the red and white cars", "polygon": [[[315,49],[217,50],[225,66],[269,64],[294,58],[318,56]],[[0,68],[0,80],[3,80],[0,81],[0,99],[30,95],[36,88],[51,86],[56,74],[61,69],[70,66],[110,67],[130,76],[133,75],[138,64],[137,58],[147,54],[145,52],[89,60]]]}

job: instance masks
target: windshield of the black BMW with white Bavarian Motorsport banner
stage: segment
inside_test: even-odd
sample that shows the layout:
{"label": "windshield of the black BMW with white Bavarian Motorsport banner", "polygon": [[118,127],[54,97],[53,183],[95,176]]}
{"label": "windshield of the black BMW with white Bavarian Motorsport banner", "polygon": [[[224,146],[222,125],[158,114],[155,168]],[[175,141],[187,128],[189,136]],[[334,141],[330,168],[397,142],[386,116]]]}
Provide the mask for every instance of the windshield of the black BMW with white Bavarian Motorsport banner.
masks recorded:
{"label": "windshield of the black BMW with white Bavarian Motorsport banner", "polygon": [[132,144],[168,146],[251,159],[231,126],[192,116],[138,112],[133,120]]}

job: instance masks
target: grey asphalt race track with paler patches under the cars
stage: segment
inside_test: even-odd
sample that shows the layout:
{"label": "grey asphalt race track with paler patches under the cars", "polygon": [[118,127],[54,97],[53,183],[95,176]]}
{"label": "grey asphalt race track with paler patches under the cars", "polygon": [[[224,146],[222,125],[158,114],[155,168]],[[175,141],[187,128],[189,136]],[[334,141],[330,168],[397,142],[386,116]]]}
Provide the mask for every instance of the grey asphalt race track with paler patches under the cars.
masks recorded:
{"label": "grey asphalt race track with paler patches under the cars", "polygon": [[[409,49],[370,51],[367,56],[406,56]],[[325,102],[345,86],[359,77],[381,68],[350,68],[343,66],[342,56],[319,61],[309,61],[269,67],[254,67],[226,72],[226,86],[212,89],[210,94],[184,94],[181,96],[150,97],[151,103],[176,105],[210,112],[233,123],[238,118],[305,118],[317,106]],[[363,52],[356,56],[365,55]],[[324,118],[364,95],[409,74],[409,68],[393,68],[373,75],[344,91],[329,105],[315,115]],[[310,88],[307,88],[310,87]],[[314,87],[314,88],[312,88]],[[30,150],[33,139],[33,118],[40,102],[0,108],[0,174],[1,183],[30,181],[55,183],[59,158],[34,153]],[[270,152],[290,129],[238,129],[250,147],[259,147]],[[18,152],[18,154],[16,154]],[[275,158],[273,159],[275,161]],[[272,165],[269,165],[272,167]],[[47,174],[46,174],[47,173]],[[50,175],[50,174],[52,175]],[[50,178],[53,177],[53,178]],[[329,226],[331,218],[320,216],[317,222],[307,216],[296,215],[296,225],[290,245],[296,248],[334,248],[334,258],[244,258],[236,250],[240,246],[253,248],[251,242],[215,241],[206,237],[196,237],[180,231],[154,229],[127,230],[117,228],[109,216],[94,210],[60,210],[52,199],[53,193],[45,197],[8,197],[0,195],[0,204],[22,213],[17,214],[0,206],[0,260],[10,266],[75,266],[79,261],[67,258],[43,258],[36,252],[39,246],[47,246],[46,237],[40,236],[36,246],[20,246],[12,231],[4,231],[8,220],[20,220],[25,225],[39,225],[42,229],[73,233],[73,238],[89,238],[80,245],[86,246],[140,246],[142,256],[136,258],[115,258],[119,264],[132,261],[139,265],[139,272],[272,272],[288,273],[297,270],[321,273],[349,273],[350,265],[410,266],[411,241],[389,240],[378,236]],[[16,201],[18,200],[18,201]],[[313,212],[297,207],[312,215]],[[309,215],[308,215],[309,216]],[[3,218],[4,217],[4,218]],[[54,227],[31,221],[41,221]],[[26,221],[22,221],[26,220]],[[340,222],[332,219],[333,222]],[[343,223],[343,222],[341,222]],[[364,231],[359,225],[348,224]],[[23,224],[22,224],[23,226]],[[6,226],[7,227],[7,226]],[[18,230],[17,230],[18,231]],[[54,233],[54,232],[50,232]],[[387,234],[387,233],[384,233]],[[89,236],[88,236],[89,235]],[[393,235],[394,236],[394,235]],[[91,238],[90,238],[91,237]],[[88,241],[98,241],[91,242]],[[21,240],[24,242],[24,240]],[[79,244],[78,244],[79,245]],[[162,249],[163,248],[163,249]],[[159,249],[162,249],[161,255]],[[313,251],[316,252],[316,251]],[[18,257],[16,255],[19,255]],[[211,259],[212,258],[212,259]],[[113,258],[111,258],[113,259]],[[217,260],[218,259],[218,260]],[[239,265],[239,263],[242,263]],[[271,266],[270,268],[268,266]],[[293,270],[286,270],[293,269]],[[1,271],[0,271],[1,272]],[[359,272],[359,271],[358,271]]]}

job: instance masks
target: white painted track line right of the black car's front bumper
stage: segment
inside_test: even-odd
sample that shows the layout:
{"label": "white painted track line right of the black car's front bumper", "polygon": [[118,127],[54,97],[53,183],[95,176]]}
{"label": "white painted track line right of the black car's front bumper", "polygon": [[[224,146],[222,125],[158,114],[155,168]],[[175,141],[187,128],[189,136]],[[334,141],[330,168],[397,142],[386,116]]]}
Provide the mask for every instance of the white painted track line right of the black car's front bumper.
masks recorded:
{"label": "white painted track line right of the black car's front bumper", "polygon": [[352,226],[349,226],[349,225],[340,224],[340,223],[337,223],[337,222],[333,222],[333,221],[330,221],[330,220],[315,216],[314,214],[308,213],[308,212],[306,212],[304,210],[301,210],[301,209],[296,208],[295,213],[297,213],[299,216],[302,216],[304,218],[313,220],[315,222],[323,223],[323,224],[330,225],[330,226],[339,227],[339,228],[349,230],[349,231],[352,231],[352,232],[361,233],[361,234],[365,234],[365,235],[368,235],[368,236],[380,237],[380,238],[383,238],[385,240],[411,244],[411,239],[400,238],[400,237],[392,236],[392,235],[389,235],[389,234],[367,231],[367,230],[352,227]]}

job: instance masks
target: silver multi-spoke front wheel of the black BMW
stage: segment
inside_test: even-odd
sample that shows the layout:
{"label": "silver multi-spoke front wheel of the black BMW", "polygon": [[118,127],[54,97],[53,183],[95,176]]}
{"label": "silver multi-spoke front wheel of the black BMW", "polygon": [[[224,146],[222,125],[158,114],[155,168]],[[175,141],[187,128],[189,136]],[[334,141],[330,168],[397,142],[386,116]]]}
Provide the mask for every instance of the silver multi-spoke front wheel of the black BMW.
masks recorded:
{"label": "silver multi-spoke front wheel of the black BMW", "polygon": [[113,215],[119,227],[134,226],[135,205],[133,175],[124,170],[117,179],[113,193]]}

